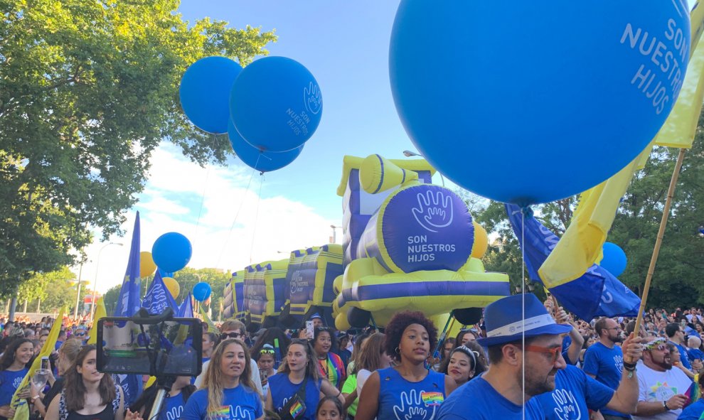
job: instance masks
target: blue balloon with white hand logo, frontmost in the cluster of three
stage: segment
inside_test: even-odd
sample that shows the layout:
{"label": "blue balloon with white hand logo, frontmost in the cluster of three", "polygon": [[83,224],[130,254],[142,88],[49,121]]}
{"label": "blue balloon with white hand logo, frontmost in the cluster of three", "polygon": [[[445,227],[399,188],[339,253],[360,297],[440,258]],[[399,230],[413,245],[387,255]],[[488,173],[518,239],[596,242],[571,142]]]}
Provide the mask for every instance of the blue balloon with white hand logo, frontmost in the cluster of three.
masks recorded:
{"label": "blue balloon with white hand logo, frontmost in the cluster of three", "polygon": [[240,135],[263,151],[289,151],[313,135],[323,113],[315,77],[301,63],[265,57],[235,80],[230,114]]}

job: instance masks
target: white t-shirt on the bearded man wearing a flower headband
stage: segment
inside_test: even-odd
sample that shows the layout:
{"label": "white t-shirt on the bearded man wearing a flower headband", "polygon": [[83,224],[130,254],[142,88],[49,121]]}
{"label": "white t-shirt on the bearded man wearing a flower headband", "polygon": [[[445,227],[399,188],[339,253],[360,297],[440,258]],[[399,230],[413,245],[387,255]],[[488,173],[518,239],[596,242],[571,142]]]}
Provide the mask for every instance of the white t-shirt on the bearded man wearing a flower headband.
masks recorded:
{"label": "white t-shirt on the bearded man wearing a flower headband", "polygon": [[[647,367],[643,362],[638,362],[636,370],[638,375],[638,401],[656,402],[667,401],[673,395],[687,394],[694,382],[677,367],[666,372],[658,372]],[[682,409],[665,411],[654,416],[632,416],[634,420],[676,420]]]}

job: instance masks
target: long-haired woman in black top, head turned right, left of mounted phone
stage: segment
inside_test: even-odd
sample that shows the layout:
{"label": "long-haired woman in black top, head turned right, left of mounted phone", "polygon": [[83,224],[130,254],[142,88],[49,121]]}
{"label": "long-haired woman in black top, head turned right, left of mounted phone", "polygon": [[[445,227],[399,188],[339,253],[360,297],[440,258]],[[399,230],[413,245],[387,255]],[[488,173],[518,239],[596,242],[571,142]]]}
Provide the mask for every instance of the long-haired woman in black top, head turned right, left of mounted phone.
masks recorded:
{"label": "long-haired woman in black top, head turned right, left of mounted phone", "polygon": [[[98,372],[95,345],[85,345],[65,375],[59,398],[46,410],[46,420],[123,420],[124,394],[110,375]],[[139,419],[129,413],[127,419]]]}

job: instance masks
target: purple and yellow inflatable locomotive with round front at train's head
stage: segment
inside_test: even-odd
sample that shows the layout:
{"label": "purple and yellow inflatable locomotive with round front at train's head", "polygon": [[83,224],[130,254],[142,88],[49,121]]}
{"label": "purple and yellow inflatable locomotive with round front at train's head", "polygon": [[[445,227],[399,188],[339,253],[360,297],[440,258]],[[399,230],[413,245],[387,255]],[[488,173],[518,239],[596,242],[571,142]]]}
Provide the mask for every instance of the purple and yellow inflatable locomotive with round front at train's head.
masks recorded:
{"label": "purple and yellow inflatable locomotive with round front at train's head", "polygon": [[433,172],[422,159],[344,158],[338,330],[383,326],[402,310],[454,311],[460,323],[476,323],[481,308],[510,294],[507,274],[484,271],[486,231],[456,193],[431,183]]}

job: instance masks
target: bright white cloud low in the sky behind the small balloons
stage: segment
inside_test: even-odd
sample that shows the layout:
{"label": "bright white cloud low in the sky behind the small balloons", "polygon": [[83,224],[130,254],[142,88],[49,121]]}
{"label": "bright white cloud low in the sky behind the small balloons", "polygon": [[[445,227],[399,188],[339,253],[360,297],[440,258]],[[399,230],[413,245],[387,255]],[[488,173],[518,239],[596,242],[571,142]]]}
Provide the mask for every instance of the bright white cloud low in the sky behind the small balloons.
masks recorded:
{"label": "bright white cloud low in the sky behind the small balloons", "polygon": [[[82,279],[92,282],[97,274],[97,290],[103,293],[122,282],[134,210],[140,210],[142,251],[151,252],[159,235],[181,232],[193,245],[188,266],[196,269],[234,271],[250,262],[287,259],[293,249],[326,244],[332,233],[330,225],[336,223],[317,214],[314,208],[281,195],[260,200],[260,176],[255,173],[247,189],[252,171],[244,166],[201,168],[183,158],[170,144],[154,152],[151,164],[140,203],[129,211],[122,226],[127,235],[111,238],[123,246],[106,247],[105,243],[94,242],[85,249],[90,262],[82,267]],[[266,190],[265,180],[263,191]],[[73,267],[73,271],[78,274],[79,267]]]}

